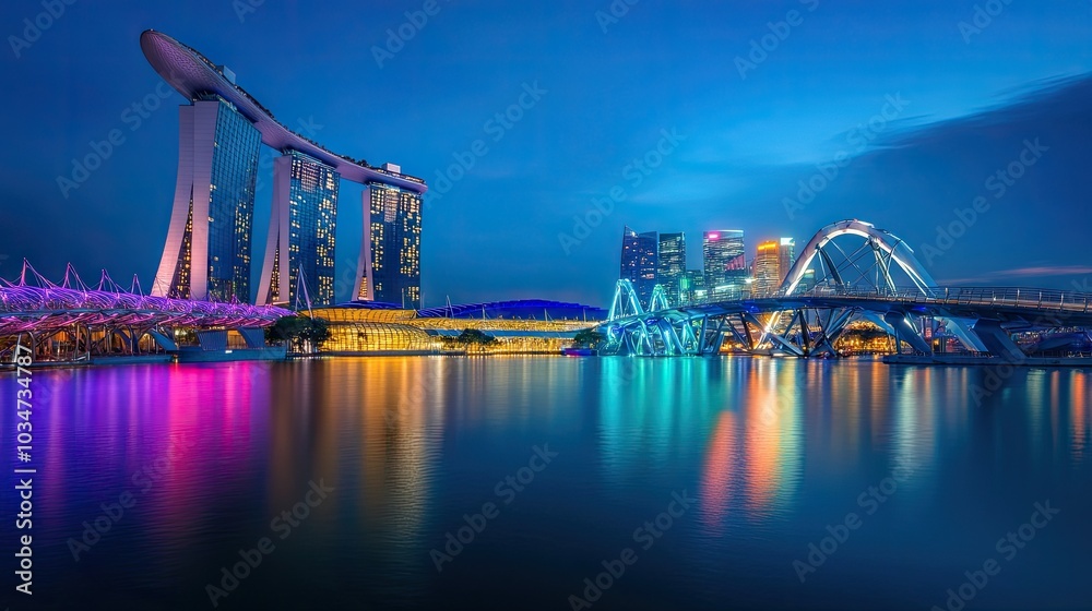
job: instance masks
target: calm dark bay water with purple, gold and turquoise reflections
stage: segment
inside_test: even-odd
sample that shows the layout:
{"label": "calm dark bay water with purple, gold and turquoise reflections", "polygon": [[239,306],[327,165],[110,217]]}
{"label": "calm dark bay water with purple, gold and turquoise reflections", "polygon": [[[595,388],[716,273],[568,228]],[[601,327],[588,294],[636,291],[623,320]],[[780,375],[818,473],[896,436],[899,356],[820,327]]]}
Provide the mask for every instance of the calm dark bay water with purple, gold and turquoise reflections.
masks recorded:
{"label": "calm dark bay water with purple, gold and turquoise reflections", "polygon": [[[34,595],[12,589],[9,475],[0,604],[925,610],[971,571],[969,610],[1090,608],[1092,378],[993,375],[546,357],[38,371]],[[9,464],[17,388],[0,378]],[[1021,532],[1036,503],[1051,519]],[[109,530],[81,548],[96,519]],[[240,550],[260,564],[222,583]]]}

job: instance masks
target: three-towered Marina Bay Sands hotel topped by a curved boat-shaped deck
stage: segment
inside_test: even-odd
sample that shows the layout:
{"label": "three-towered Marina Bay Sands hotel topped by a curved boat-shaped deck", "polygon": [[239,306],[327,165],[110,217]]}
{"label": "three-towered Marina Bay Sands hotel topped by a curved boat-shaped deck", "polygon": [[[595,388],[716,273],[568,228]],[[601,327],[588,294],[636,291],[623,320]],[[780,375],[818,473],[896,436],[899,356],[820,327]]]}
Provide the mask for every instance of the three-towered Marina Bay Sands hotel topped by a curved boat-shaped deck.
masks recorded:
{"label": "three-towered Marina Bay Sands hotel topped by a curved boat-shaped deck", "polygon": [[[140,37],[156,72],[190,100],[179,108],[178,182],[153,295],[244,303],[328,306],[341,179],[364,185],[354,299],[420,308],[425,181],[371,167],[292,132],[235,84],[235,73],[158,32]],[[273,165],[273,209],[258,290],[251,238],[258,157]]]}

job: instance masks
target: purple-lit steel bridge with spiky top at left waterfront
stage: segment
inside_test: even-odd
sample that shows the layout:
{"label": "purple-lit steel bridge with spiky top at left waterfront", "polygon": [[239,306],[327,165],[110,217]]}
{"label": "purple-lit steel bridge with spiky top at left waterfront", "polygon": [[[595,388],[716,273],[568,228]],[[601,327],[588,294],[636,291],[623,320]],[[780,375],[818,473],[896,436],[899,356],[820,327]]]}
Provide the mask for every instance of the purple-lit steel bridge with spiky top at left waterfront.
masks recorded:
{"label": "purple-lit steel bridge with spiky top at left waterfront", "polygon": [[[24,261],[16,280],[0,278],[0,362],[11,362],[14,345],[23,336],[47,359],[136,355],[177,349],[176,328],[249,330],[293,313],[266,306],[153,297],[143,292],[135,277],[126,289],[106,272],[97,285],[88,286],[72,264],[57,285]],[[245,335],[248,343],[257,342],[258,334]],[[49,354],[49,346],[61,345],[63,355]]]}

